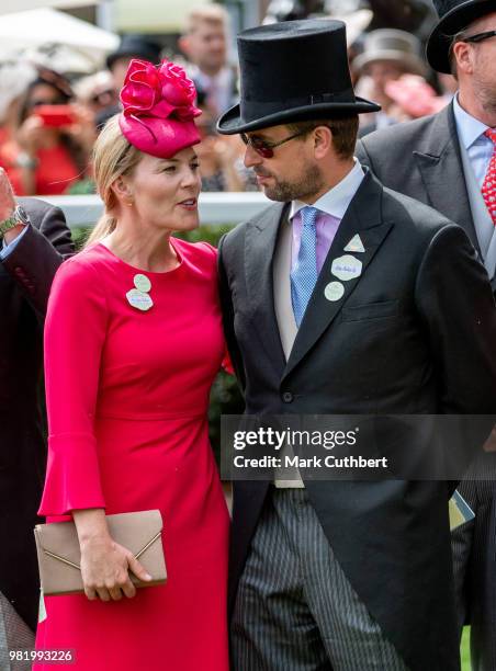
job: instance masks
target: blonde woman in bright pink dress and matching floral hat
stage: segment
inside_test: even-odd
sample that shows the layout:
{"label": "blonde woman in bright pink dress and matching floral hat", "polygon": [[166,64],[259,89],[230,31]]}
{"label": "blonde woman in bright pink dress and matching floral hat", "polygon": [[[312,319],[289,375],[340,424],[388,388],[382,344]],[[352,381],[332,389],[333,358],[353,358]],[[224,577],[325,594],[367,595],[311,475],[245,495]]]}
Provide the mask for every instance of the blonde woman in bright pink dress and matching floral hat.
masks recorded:
{"label": "blonde woman in bright pink dress and matching floral hat", "polygon": [[[171,238],[199,225],[194,94],[178,66],[131,62],[95,147],[105,215],[49,299],[40,514],[75,520],[86,594],[45,598],[36,649],[74,650],[78,671],[228,668],[228,512],[206,420],[225,350],[216,258]],[[105,514],[151,509],[168,581],[136,590],[145,570]]]}

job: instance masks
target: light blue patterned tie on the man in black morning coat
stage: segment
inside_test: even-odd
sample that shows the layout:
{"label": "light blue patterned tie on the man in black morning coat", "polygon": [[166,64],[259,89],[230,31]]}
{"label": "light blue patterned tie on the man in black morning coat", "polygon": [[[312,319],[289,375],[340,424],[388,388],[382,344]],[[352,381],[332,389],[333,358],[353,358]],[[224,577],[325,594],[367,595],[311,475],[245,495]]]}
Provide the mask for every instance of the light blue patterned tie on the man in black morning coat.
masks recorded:
{"label": "light blue patterned tie on the man in black morning coat", "polygon": [[291,271],[291,300],[297,327],[302,323],[303,315],[317,283],[317,229],[315,221],[319,213],[315,207],[303,207],[302,239],[300,252],[294,269]]}

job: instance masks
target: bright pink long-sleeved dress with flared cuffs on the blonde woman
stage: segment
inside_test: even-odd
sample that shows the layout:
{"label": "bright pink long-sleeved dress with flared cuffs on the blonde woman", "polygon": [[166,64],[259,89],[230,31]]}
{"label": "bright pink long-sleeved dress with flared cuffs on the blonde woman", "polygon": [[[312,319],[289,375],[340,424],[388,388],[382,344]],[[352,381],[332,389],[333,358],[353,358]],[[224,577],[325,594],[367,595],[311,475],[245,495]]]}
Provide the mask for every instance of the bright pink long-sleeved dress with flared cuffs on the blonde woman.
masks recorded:
{"label": "bright pink long-sleeved dress with flared cuffs on the blonde woman", "polygon": [[[40,514],[159,509],[165,585],[134,599],[46,596],[36,649],[77,671],[227,671],[228,512],[208,443],[224,355],[216,252],[173,239],[180,265],[149,273],[95,244],[54,281],[45,331],[49,454]],[[154,306],[126,299],[134,276]],[[52,671],[38,663],[36,671]]]}

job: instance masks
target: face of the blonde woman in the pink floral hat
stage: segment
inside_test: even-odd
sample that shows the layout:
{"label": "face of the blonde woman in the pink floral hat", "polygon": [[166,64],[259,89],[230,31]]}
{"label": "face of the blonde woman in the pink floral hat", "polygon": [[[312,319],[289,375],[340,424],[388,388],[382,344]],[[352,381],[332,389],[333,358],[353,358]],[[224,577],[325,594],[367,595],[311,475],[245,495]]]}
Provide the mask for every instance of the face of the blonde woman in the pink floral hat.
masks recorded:
{"label": "face of the blonde woman in the pink floral hat", "polygon": [[145,225],[166,230],[191,230],[199,226],[201,178],[192,147],[171,159],[145,153],[127,182],[134,207]]}

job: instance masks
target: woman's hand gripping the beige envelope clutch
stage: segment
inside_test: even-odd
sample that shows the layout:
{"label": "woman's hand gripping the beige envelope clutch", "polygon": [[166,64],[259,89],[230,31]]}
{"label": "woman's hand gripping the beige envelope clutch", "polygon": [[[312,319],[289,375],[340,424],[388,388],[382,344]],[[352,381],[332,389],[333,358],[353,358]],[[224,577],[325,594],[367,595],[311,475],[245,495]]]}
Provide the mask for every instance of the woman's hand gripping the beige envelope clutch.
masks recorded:
{"label": "woman's hand gripping the beige envelope clutch", "polygon": [[81,543],[81,575],[88,599],[99,596],[102,601],[120,601],[123,594],[132,599],[136,588],[131,581],[129,570],[139,580],[151,580],[133,553],[110,535],[94,536]]}

